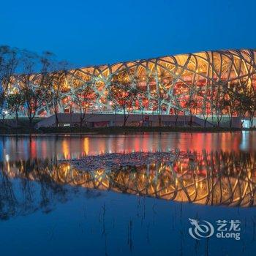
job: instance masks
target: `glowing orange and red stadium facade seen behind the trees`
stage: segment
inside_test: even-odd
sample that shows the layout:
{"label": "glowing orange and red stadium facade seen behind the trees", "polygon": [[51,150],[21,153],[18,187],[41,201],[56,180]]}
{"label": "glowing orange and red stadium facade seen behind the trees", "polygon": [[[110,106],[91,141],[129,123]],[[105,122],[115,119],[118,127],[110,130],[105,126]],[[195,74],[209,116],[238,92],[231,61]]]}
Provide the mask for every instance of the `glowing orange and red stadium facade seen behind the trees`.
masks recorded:
{"label": "glowing orange and red stadium facade seen behind the trees", "polygon": [[[123,77],[129,81],[130,86],[145,92],[145,113],[155,113],[157,102],[161,105],[162,114],[172,115],[177,110],[179,113],[188,114],[188,102],[193,101],[194,105],[190,105],[193,114],[214,115],[217,110],[212,102],[217,98],[223,97],[228,100],[230,97],[222,94],[224,86],[239,90],[256,90],[255,71],[256,50],[203,51],[70,69],[61,79],[59,113],[79,113],[74,100],[78,96],[75,89],[89,81],[97,97],[86,111],[113,112],[113,102],[108,98],[108,89],[116,75],[124,74]],[[37,86],[39,78],[40,75],[34,75],[31,77],[31,83]],[[17,76],[9,91],[13,93],[21,86],[22,80]],[[130,108],[132,113],[141,112],[139,94],[138,100],[135,100]],[[225,113],[228,111],[227,108],[223,109]],[[121,112],[121,109],[117,111]],[[42,108],[37,110],[37,115],[51,116],[53,110],[45,102]]]}

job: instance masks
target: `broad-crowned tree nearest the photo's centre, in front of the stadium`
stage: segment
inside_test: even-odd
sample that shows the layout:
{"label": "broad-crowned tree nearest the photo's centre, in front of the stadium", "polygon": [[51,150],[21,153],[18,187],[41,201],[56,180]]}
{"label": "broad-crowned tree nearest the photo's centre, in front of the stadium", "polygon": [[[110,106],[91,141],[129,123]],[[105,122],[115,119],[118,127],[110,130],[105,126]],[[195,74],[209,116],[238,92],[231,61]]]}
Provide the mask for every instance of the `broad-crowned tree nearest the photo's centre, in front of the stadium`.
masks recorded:
{"label": "broad-crowned tree nearest the photo's centre, in front of the stadium", "polygon": [[129,75],[127,75],[126,72],[121,72],[113,76],[112,83],[108,87],[108,99],[112,101],[113,105],[116,105],[117,108],[123,110],[124,127],[126,126],[129,114],[132,113],[138,94],[138,88],[131,83]]}

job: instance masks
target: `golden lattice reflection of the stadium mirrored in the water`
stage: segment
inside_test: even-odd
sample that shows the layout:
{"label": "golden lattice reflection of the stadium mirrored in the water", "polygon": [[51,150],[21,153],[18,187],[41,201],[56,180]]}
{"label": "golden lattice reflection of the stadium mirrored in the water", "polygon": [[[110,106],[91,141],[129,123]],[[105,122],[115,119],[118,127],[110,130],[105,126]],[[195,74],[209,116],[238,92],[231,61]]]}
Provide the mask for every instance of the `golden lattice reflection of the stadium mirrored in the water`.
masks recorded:
{"label": "golden lattice reflection of the stadium mirrored in the water", "polygon": [[[1,197],[15,195],[11,184],[7,189],[4,186],[10,183],[7,182],[10,178],[20,178],[26,184],[29,181],[39,184],[42,181],[47,186],[53,184],[57,192],[58,189],[61,191],[61,185],[70,185],[203,205],[255,206],[255,159],[256,154],[252,156],[244,152],[208,154],[202,151],[176,162],[152,160],[147,165],[113,166],[91,171],[78,170],[69,162],[56,159],[2,162]],[[0,211],[0,218],[5,215]]]}

